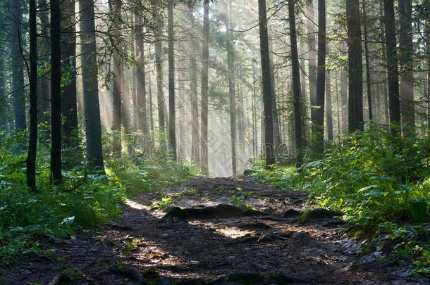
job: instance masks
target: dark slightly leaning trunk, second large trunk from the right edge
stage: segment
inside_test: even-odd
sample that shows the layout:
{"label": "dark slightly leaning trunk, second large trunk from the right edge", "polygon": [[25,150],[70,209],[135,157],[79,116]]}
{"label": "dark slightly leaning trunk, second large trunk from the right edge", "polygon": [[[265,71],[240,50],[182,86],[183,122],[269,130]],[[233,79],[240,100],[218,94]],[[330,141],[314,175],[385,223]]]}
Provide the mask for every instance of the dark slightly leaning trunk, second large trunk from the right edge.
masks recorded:
{"label": "dark slightly leaning trunk, second large trunk from the right edge", "polygon": [[[388,74],[388,99],[390,110],[391,134],[396,135],[400,124],[400,97],[397,63],[397,47],[395,43],[394,0],[383,1],[384,22],[386,32],[386,61]],[[397,126],[397,127],[396,127]]]}

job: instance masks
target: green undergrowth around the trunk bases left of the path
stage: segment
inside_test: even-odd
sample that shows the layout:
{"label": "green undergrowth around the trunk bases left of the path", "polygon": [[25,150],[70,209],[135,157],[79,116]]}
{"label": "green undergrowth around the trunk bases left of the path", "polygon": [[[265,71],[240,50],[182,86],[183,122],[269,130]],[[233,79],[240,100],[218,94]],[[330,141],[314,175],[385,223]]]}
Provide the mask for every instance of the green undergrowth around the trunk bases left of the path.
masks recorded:
{"label": "green undergrowth around the trunk bases left of the path", "polygon": [[[26,134],[0,133],[0,265],[19,255],[44,253],[44,239],[74,238],[121,215],[121,203],[140,192],[184,183],[194,170],[168,157],[106,156],[106,174],[87,172],[82,152],[76,167],[63,169],[63,184],[51,186],[49,143],[37,153],[37,193],[25,186]],[[106,144],[105,144],[106,145]],[[66,153],[66,151],[65,151]],[[68,151],[68,158],[70,158]],[[70,158],[71,159],[71,158]]]}

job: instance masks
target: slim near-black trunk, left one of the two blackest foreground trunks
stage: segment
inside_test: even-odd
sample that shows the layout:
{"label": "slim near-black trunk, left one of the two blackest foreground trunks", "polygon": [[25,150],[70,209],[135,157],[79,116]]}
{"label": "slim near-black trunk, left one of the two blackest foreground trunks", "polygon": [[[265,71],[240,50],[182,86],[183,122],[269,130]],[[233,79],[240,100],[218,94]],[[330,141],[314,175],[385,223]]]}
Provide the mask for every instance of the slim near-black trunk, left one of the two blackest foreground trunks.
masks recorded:
{"label": "slim near-black trunk, left one of the two blackest foreground trunks", "polygon": [[36,189],[36,156],[37,156],[37,30],[36,0],[29,1],[30,8],[30,139],[27,153],[27,186]]}

